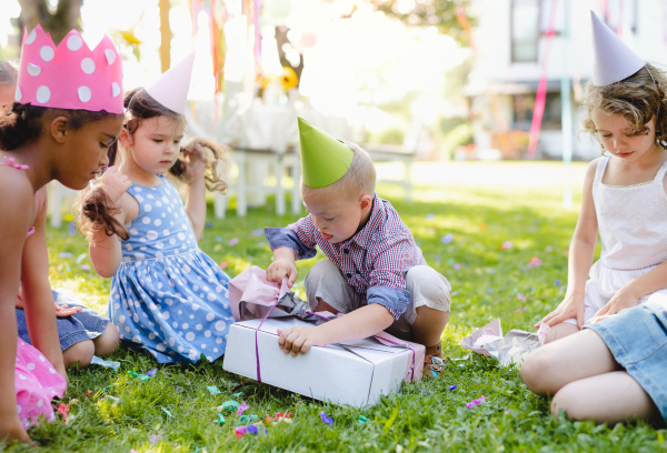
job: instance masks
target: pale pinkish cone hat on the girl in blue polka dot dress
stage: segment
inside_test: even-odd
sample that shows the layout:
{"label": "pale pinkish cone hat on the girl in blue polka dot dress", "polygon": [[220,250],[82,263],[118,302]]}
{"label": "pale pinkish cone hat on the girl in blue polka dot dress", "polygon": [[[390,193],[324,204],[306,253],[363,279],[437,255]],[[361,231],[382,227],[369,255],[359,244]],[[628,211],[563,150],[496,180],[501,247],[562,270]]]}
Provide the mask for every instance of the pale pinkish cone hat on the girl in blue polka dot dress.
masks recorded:
{"label": "pale pinkish cone hat on the girl in blue polka dot dress", "polygon": [[146,87],[146,92],[172,112],[185,114],[193,63],[195,52],[190,52],[188,57],[165,71],[158,80]]}

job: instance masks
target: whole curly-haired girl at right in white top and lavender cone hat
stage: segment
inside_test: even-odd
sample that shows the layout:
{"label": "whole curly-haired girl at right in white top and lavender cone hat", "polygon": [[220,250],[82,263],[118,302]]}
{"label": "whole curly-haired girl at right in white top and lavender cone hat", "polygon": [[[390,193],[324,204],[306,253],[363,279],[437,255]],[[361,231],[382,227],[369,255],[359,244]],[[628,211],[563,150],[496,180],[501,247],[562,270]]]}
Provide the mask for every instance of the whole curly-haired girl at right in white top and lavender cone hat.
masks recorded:
{"label": "whole curly-haired girl at right in white top and lavender cone hat", "polygon": [[521,378],[556,416],[667,420],[667,77],[591,20],[584,127],[608,154],[588,167],[567,293]]}

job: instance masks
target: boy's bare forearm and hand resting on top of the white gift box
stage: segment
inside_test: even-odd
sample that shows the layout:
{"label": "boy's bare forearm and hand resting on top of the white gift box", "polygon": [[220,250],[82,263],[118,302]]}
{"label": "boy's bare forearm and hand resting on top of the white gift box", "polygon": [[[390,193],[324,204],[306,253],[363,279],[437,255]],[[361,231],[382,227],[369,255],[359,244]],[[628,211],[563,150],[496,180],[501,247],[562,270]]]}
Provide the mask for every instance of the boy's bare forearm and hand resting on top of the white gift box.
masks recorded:
{"label": "boy's bare forearm and hand resting on top of the white gift box", "polygon": [[285,353],[305,354],[311,346],[325,346],[375,335],[394,323],[384,305],[371,303],[315,328],[297,326],[279,330],[278,344]]}

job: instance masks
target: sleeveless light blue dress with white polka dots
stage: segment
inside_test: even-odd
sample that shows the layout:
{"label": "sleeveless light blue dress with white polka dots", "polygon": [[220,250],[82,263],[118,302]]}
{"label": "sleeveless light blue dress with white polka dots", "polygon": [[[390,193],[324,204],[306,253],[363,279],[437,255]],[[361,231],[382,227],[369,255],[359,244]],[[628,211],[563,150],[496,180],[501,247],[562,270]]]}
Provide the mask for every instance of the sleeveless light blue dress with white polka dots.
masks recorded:
{"label": "sleeveless light blue dress with white polka dots", "polygon": [[[162,177],[161,177],[162,178]],[[120,339],[158,362],[213,361],[225,353],[229,276],[199,250],[181,198],[162,178],[155,188],[133,184],[139,215],[122,241],[122,262],[111,281],[109,318]]]}

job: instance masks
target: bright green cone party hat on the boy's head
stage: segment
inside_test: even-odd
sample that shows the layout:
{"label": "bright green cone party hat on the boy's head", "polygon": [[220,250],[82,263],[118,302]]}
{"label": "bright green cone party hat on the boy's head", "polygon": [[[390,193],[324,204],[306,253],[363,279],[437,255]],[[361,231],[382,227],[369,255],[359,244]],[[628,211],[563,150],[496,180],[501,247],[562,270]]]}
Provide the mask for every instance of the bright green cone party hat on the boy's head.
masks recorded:
{"label": "bright green cone party hat on the boy's head", "polygon": [[312,189],[335,183],[349,170],[355,153],[302,118],[298,121],[303,183]]}

